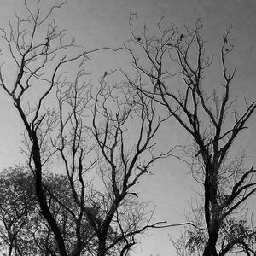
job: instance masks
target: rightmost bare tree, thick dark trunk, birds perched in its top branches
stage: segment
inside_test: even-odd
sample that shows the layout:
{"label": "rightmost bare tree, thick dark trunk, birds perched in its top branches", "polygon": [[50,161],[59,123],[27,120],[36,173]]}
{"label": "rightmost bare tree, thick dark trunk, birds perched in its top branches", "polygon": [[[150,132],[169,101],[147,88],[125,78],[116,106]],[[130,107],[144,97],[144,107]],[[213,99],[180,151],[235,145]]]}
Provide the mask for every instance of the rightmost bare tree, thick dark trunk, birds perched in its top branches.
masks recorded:
{"label": "rightmost bare tree, thick dark trunk, birds perched in its top branches", "polygon": [[[189,164],[203,191],[201,228],[206,229],[206,241],[202,255],[225,255],[239,251],[242,244],[246,248],[247,239],[255,237],[255,230],[250,221],[242,225],[242,214],[238,212],[256,191],[256,170],[245,166],[242,159],[232,158],[232,150],[239,144],[237,137],[247,128],[256,102],[244,100],[243,107],[237,108],[236,97],[231,97],[236,76],[236,68],[228,68],[233,50],[231,29],[224,33],[220,47],[221,77],[217,75],[214,83],[220,85],[212,90],[207,72],[213,56],[207,56],[201,20],[180,32],[176,26],[165,28],[162,19],[157,34],[151,36],[144,26],[137,40],[138,32],[132,25],[135,16],[131,15],[132,38],[126,49],[133,58],[137,78],[125,75],[144,96],[164,106],[193,139],[192,146],[182,147],[186,154],[177,157]],[[233,218],[235,213],[238,219]],[[236,236],[232,236],[234,230]]]}

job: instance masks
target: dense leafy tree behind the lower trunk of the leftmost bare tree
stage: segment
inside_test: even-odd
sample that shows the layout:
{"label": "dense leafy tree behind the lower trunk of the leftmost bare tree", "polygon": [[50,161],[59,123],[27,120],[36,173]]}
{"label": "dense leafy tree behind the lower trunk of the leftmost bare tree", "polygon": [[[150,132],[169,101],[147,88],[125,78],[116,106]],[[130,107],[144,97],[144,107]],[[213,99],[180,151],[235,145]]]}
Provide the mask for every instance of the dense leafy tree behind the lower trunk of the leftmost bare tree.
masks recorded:
{"label": "dense leafy tree behind the lower trunk of the leftmost bare tree", "polygon": [[[76,205],[70,193],[67,177],[53,173],[44,174],[44,189],[47,190],[51,212],[67,242],[72,255],[76,241],[78,222],[71,211]],[[8,255],[52,255],[57,252],[53,232],[38,208],[34,191],[34,177],[27,168],[16,166],[1,172],[1,246]],[[55,200],[58,198],[58,200]],[[64,202],[66,203],[64,204]],[[65,207],[64,207],[65,206]],[[67,211],[67,206],[69,211]],[[96,246],[95,236],[86,218],[79,222],[84,236],[81,239],[83,253]]]}

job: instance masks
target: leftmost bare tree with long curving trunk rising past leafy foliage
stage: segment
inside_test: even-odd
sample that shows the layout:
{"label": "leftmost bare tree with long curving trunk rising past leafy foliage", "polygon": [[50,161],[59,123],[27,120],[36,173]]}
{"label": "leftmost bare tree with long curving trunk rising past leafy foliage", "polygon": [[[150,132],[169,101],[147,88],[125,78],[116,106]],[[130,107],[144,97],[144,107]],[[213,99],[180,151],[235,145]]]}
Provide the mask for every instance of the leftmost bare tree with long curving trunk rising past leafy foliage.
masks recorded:
{"label": "leftmost bare tree with long curving trunk rising past leafy foliage", "polygon": [[[17,76],[14,85],[6,84],[3,79],[3,67],[0,80],[3,90],[11,97],[15,108],[20,113],[30,143],[32,144],[31,159],[32,169],[36,180],[36,194],[38,197],[41,213],[49,223],[55,234],[55,239],[61,255],[67,255],[65,243],[61,236],[61,230],[49,210],[49,204],[44,193],[42,183],[42,162],[40,142],[38,140],[38,128],[44,121],[44,102],[50,92],[55,89],[55,76],[57,71],[70,61],[75,61],[84,55],[89,55],[99,49],[88,50],[76,56],[67,57],[65,50],[75,47],[72,39],[70,42],[64,40],[65,32],[59,30],[55,20],[49,21],[50,15],[55,9],[61,8],[62,4],[54,5],[49,12],[44,14],[40,9],[40,1],[36,3],[36,10],[33,12],[28,3],[24,2],[27,18],[16,17],[15,25],[9,23],[9,31],[2,29],[3,39],[9,47],[9,53],[15,63]],[[44,30],[46,26],[46,31]],[[50,71],[49,71],[50,68]],[[26,96],[32,94],[34,88],[44,86],[41,95],[32,106],[29,102],[23,101]]]}

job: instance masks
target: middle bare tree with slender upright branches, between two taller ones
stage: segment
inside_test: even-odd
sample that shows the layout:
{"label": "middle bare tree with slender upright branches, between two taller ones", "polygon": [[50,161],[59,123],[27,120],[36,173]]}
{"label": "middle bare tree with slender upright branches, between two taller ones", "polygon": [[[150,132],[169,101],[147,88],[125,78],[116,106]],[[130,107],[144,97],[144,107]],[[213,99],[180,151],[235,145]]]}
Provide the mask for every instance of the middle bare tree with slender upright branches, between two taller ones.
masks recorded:
{"label": "middle bare tree with slender upright branches, between two taller ones", "polygon": [[[109,74],[104,74],[94,90],[96,87],[84,84],[86,74],[82,61],[74,81],[66,78],[58,86],[60,133],[55,149],[65,163],[80,214],[86,214],[95,231],[97,255],[116,251],[116,247],[125,255],[137,243],[137,234],[164,224],[149,223],[151,218],[133,187],[155,160],[168,155],[155,155],[153,142],[167,117],[160,119],[154,100],[126,82],[108,85]],[[90,170],[99,173],[102,189],[90,188],[86,201],[89,184],[84,182],[84,174]]]}

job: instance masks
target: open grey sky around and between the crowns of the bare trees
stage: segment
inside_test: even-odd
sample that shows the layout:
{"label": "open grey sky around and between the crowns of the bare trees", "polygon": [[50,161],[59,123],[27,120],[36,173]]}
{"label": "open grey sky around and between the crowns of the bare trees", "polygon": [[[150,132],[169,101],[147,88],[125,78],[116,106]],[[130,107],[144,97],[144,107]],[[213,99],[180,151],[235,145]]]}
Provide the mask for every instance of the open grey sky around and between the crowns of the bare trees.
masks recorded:
{"label": "open grey sky around and between the crowns of the bare trees", "polygon": [[[9,0],[1,3],[0,25],[6,26],[14,19],[15,12],[23,13],[21,0]],[[29,3],[29,1],[28,1]],[[32,3],[32,2],[31,2]],[[42,0],[48,6],[53,1]],[[60,3],[60,2],[56,2]],[[67,29],[67,35],[75,37],[77,44],[84,49],[96,49],[103,46],[119,48],[131,38],[129,15],[137,12],[136,28],[142,31],[144,23],[154,32],[156,23],[165,16],[165,23],[193,26],[197,18],[204,24],[204,34],[211,52],[219,53],[222,35],[226,28],[233,27],[230,40],[235,49],[230,58],[231,67],[237,67],[236,82],[233,91],[236,95],[247,96],[249,101],[256,98],[256,1],[253,0],[67,0],[67,4],[54,18],[58,26]],[[0,41],[0,47],[3,42]],[[128,55],[96,55],[92,72],[102,75],[111,67],[128,67],[131,59]],[[216,65],[217,64],[217,65]],[[212,67],[218,67],[218,61]],[[18,114],[12,103],[0,91],[0,169],[22,162],[20,155],[20,132],[23,130]],[[251,129],[241,141],[246,143],[256,156],[255,114]],[[162,131],[159,142],[163,147],[186,140],[187,135],[178,125],[168,124],[170,130]],[[22,127],[22,129],[21,129]],[[166,139],[167,138],[167,139]],[[253,160],[252,160],[253,162]],[[155,220],[166,220],[168,224],[185,221],[184,213],[189,211],[189,201],[193,199],[195,184],[191,181],[186,166],[170,159],[155,165],[154,175],[144,178],[137,188],[140,198],[156,205]],[[142,244],[137,246],[134,255],[171,256],[175,255],[168,234],[177,237],[177,228],[151,230],[149,236],[143,236]]]}

